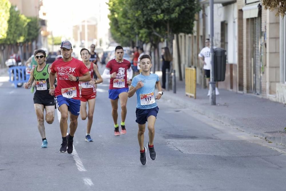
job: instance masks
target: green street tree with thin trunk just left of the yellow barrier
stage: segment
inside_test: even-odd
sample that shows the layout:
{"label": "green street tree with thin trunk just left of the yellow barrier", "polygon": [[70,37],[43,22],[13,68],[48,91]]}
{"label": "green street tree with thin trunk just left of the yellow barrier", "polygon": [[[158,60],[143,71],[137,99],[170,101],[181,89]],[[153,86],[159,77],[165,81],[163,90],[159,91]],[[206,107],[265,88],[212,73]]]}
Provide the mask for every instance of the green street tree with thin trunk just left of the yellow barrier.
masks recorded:
{"label": "green street tree with thin trunk just left of the yellow barrier", "polygon": [[[146,35],[149,38],[154,38],[155,35],[161,40],[166,39],[170,50],[174,34],[177,37],[179,33],[192,34],[195,14],[200,10],[196,0],[145,0],[144,3],[133,0],[129,7],[132,7],[135,15],[132,24],[139,37],[145,40]],[[180,55],[178,48],[177,51]],[[182,80],[180,65],[178,62],[179,78]]]}

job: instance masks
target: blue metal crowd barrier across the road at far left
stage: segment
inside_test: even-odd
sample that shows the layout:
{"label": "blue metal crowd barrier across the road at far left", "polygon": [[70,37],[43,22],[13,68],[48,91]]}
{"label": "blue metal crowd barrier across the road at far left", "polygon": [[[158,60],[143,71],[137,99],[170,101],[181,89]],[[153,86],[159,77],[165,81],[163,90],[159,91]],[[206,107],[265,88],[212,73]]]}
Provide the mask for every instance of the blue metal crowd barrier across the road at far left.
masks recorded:
{"label": "blue metal crowd barrier across the road at far left", "polygon": [[27,82],[30,75],[26,75],[26,66],[13,66],[9,68],[9,81],[17,88],[18,83]]}

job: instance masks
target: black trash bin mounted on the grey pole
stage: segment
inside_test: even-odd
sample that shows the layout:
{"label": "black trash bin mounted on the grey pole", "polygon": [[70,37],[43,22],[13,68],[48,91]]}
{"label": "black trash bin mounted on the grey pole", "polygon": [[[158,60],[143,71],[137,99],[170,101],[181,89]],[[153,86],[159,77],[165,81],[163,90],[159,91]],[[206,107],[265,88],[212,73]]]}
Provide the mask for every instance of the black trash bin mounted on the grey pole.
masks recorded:
{"label": "black trash bin mounted on the grey pole", "polygon": [[225,68],[227,62],[226,50],[222,48],[214,49],[215,82],[225,80]]}

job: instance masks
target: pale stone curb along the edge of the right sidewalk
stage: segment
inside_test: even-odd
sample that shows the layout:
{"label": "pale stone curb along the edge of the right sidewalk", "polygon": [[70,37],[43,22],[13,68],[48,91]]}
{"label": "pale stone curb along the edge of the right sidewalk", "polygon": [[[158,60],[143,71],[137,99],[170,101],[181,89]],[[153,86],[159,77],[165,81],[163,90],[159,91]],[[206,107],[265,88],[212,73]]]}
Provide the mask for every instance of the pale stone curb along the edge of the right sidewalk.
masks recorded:
{"label": "pale stone curb along the edge of the right sidewalk", "polygon": [[182,99],[175,99],[174,96],[172,96],[172,94],[173,94],[172,92],[170,92],[170,94],[164,94],[162,99],[166,100],[166,101],[172,100],[173,103],[175,103],[176,105],[178,105],[180,107],[183,107],[183,108],[188,107],[188,108],[192,109],[193,111],[196,111],[198,113],[201,113],[202,115],[206,115],[208,117],[211,117],[212,119],[226,123],[227,125],[231,125],[240,131],[249,133],[250,135],[263,138],[266,141],[271,141],[271,142],[279,144],[279,145],[286,146],[286,137],[273,137],[273,136],[270,136],[269,134],[266,134],[266,133],[261,133],[259,131],[251,130],[250,128],[239,126],[235,123],[235,121],[233,121],[233,119],[231,119],[231,117],[229,117],[228,115],[226,115],[224,113],[214,113],[213,111],[208,110],[207,107],[200,105],[200,104],[197,104],[197,103],[194,103],[191,100],[185,101]]}

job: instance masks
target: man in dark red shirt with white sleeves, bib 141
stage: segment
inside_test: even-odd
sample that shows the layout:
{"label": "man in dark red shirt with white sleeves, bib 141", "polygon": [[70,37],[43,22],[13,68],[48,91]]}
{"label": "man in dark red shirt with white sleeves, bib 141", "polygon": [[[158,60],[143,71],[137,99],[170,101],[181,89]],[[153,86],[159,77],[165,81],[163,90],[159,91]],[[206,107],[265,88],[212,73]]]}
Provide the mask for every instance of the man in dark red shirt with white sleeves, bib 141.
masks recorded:
{"label": "man in dark red shirt with white sleeves, bib 141", "polygon": [[[112,118],[114,121],[114,135],[124,135],[125,129],[125,118],[126,118],[126,103],[127,103],[127,92],[129,90],[128,85],[131,85],[132,80],[132,69],[131,64],[128,60],[123,59],[124,51],[122,46],[116,46],[115,48],[115,59],[110,60],[102,74],[103,78],[110,78],[109,84],[109,99],[112,106]],[[119,127],[117,124],[118,118],[118,98],[120,99],[121,105],[121,131],[119,133]]]}

